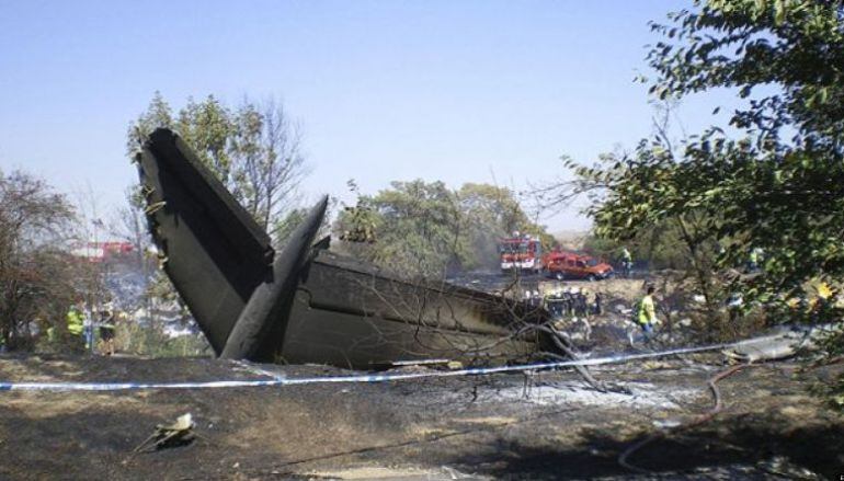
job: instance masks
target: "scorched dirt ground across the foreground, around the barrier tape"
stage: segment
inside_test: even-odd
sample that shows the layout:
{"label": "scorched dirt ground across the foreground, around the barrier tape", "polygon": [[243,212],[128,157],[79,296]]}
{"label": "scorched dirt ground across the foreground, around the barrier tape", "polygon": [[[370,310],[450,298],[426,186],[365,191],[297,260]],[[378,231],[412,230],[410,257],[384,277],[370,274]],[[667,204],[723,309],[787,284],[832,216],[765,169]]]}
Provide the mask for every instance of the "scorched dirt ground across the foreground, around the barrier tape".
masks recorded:
{"label": "scorched dirt ground across the foreground, around the barrier tape", "polygon": [[[288,378],[347,375],[263,366]],[[424,370],[409,367],[403,370]],[[634,453],[631,444],[711,408],[717,355],[595,370],[630,393],[588,389],[571,371],[380,383],[148,390],[0,391],[2,479],[806,479],[844,474],[844,419],[808,389],[839,367],[779,363],[719,386],[726,410]],[[205,359],[3,357],[5,381],[258,379]],[[191,413],[197,437],[133,449]],[[816,478],[817,479],[817,478]]]}

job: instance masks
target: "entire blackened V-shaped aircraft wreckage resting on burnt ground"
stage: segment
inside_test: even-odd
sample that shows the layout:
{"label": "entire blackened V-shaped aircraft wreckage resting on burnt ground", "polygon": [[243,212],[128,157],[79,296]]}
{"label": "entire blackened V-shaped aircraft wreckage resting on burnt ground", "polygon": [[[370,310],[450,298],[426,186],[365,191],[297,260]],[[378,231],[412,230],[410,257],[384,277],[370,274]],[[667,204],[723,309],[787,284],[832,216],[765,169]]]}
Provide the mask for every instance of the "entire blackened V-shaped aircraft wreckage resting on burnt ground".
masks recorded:
{"label": "entire blackened V-shaped aircraft wreckage resting on burnt ground", "polygon": [[315,245],[328,199],[281,251],[176,134],[137,156],[167,275],[215,353],[367,368],[390,360],[523,360],[546,344],[545,311],[446,283],[410,282]]}

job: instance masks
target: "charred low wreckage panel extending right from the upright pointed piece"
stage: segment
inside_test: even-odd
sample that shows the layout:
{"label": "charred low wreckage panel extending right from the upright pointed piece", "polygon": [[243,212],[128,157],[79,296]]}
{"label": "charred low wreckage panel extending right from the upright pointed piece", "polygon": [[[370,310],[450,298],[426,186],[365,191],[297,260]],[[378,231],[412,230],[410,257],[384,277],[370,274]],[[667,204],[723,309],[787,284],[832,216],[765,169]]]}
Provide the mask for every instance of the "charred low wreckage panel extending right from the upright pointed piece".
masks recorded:
{"label": "charred low wreckage panel extending right from the upright pointed piece", "polygon": [[537,332],[518,331],[540,311],[450,284],[397,279],[327,251],[299,291],[283,350],[293,358],[321,350],[343,366],[430,357],[488,364],[537,350]]}

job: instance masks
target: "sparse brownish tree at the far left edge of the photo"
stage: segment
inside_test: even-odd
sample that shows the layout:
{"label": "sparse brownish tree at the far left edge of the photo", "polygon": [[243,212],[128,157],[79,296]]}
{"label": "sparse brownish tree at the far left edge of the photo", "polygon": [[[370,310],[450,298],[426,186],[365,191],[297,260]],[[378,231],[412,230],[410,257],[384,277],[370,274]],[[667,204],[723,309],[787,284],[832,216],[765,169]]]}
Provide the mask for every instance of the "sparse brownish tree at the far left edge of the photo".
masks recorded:
{"label": "sparse brownish tree at the far left edge of the photo", "polygon": [[0,337],[26,345],[37,322],[64,329],[82,274],[68,253],[73,209],[42,180],[0,172]]}

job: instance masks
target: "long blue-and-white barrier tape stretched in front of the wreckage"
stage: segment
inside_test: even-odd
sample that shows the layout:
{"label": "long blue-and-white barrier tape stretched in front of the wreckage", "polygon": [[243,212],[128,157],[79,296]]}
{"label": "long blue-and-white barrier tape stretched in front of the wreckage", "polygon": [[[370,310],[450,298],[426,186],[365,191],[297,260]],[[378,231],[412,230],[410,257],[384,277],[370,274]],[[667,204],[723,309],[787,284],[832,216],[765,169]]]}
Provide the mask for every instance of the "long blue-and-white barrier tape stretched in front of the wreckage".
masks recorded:
{"label": "long blue-and-white barrier tape stretched in front of the wreckage", "polygon": [[700,347],[682,347],[657,353],[620,354],[592,359],[560,360],[554,363],[523,364],[499,367],[474,367],[449,371],[385,374],[364,376],[329,376],[312,378],[284,378],[281,375],[261,369],[273,379],[240,380],[240,381],[208,381],[208,382],[0,382],[0,391],[126,391],[140,389],[215,389],[215,388],[254,388],[262,386],[295,386],[328,382],[386,382],[431,377],[480,376],[498,373],[516,373],[524,370],[543,370],[558,367],[597,366],[602,364],[625,363],[628,360],[649,359],[672,356],[676,354],[702,353],[731,347],[740,343],[715,344]]}

